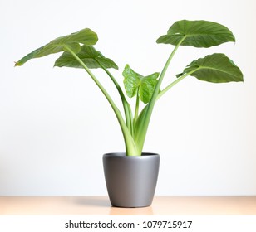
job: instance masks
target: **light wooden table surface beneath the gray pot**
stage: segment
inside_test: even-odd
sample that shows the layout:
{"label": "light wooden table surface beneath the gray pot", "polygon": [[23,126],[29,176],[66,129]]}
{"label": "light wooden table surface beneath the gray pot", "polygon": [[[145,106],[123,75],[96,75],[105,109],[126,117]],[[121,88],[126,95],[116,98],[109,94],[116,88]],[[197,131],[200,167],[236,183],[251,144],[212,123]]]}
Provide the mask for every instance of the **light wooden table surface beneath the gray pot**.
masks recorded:
{"label": "light wooden table surface beneath the gray pot", "polygon": [[155,196],[144,208],[107,196],[0,196],[0,215],[256,215],[256,196]]}

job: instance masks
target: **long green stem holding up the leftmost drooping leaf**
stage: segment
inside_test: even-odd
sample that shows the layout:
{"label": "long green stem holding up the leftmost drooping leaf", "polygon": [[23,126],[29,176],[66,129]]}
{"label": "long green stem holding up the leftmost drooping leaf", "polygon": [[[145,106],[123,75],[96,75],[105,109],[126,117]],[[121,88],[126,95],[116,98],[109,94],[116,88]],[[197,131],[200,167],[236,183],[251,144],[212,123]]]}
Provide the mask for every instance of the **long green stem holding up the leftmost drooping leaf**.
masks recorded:
{"label": "long green stem holding up the leftmost drooping leaf", "polygon": [[96,79],[96,76],[91,73],[91,70],[85,65],[85,63],[76,55],[74,51],[72,51],[68,46],[65,46],[66,51],[69,51],[72,56],[76,58],[76,60],[82,65],[82,67],[86,70],[86,72],[91,76],[92,80],[96,83],[96,85],[101,89],[102,94],[105,95],[106,99],[108,100],[109,104],[111,104],[111,107],[113,111],[116,114],[116,118],[121,126],[121,131],[124,136],[124,140],[126,143],[126,155],[138,155],[137,148],[135,146],[134,139],[132,138],[128,128],[126,127],[126,123],[124,119],[121,116],[120,110],[116,107],[116,104],[111,99],[111,96],[107,93],[106,89],[101,85],[99,80]]}

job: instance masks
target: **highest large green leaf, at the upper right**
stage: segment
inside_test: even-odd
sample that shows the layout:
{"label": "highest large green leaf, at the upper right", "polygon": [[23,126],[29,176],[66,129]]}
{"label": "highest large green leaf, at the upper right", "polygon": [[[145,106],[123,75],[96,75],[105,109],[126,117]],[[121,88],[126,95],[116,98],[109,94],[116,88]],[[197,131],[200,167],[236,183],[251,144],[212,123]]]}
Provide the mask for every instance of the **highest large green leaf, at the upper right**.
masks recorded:
{"label": "highest large green leaf, at the upper right", "polygon": [[182,46],[210,47],[235,41],[229,28],[217,22],[181,20],[175,22],[167,31],[167,35],[160,36],[156,42],[176,46],[184,37]]}

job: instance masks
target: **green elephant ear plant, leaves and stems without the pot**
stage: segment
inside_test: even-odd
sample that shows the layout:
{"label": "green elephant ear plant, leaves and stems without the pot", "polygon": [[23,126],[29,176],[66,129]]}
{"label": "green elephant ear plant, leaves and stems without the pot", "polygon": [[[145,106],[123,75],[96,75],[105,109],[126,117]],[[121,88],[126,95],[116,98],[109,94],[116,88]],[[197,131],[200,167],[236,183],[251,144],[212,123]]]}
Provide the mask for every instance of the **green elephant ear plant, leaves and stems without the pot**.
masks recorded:
{"label": "green elephant ear plant, leaves and stems without the pot", "polygon": [[[210,47],[218,46],[222,43],[235,41],[234,35],[227,27],[207,21],[188,21],[181,20],[175,22],[167,34],[160,36],[157,43],[169,44],[174,46],[170,53],[163,70],[150,75],[140,75],[126,65],[122,75],[126,94],[129,98],[135,97],[135,110],[132,112],[126,96],[118,84],[115,77],[109,69],[118,69],[114,61],[106,58],[100,51],[96,51],[94,45],[98,37],[94,31],[86,28],[68,36],[58,37],[50,41],[45,46],[37,48],[35,51],[27,54],[21,60],[17,61],[15,66],[20,66],[33,58],[51,55],[62,52],[62,55],[56,60],[55,66],[81,68],[86,70],[96,85],[105,95],[111,108],[116,114],[120,124],[121,131],[126,144],[126,156],[140,156],[145,143],[147,129],[150,123],[150,117],[155,103],[169,89],[175,86],[180,80],[187,76],[194,76],[198,80],[205,80],[213,83],[225,83],[230,81],[243,81],[243,74],[239,67],[234,64],[227,56],[222,53],[214,53],[204,58],[192,61],[185,67],[180,74],[176,75],[175,80],[165,87],[161,83],[165,77],[166,70],[170,61],[175,56],[180,46]],[[169,47],[168,47],[169,48]],[[101,68],[106,72],[116,86],[123,104],[123,113],[118,109],[111,95],[106,91],[101,82],[96,78],[92,69]],[[140,104],[140,101],[143,104]],[[125,117],[123,117],[123,115]]]}

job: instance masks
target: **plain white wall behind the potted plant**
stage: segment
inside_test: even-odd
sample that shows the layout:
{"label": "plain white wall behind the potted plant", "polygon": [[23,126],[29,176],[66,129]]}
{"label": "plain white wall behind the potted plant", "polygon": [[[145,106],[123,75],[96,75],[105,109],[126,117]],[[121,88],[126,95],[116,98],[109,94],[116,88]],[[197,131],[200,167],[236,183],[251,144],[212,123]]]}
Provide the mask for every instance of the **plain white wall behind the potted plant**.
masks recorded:
{"label": "plain white wall behind the potted plant", "polygon": [[[160,71],[171,46],[155,40],[180,19],[229,27],[232,43],[181,47],[166,80],[191,60],[224,52],[244,84],[192,77],[158,102],[145,151],[161,155],[157,195],[256,194],[255,1],[32,1],[0,3],[0,196],[106,195],[101,156],[124,151],[106,99],[83,70],[52,68],[57,56],[13,61],[57,36],[89,27],[96,48],[141,74]],[[115,91],[107,77],[99,79]],[[117,99],[117,94],[114,94]]]}

